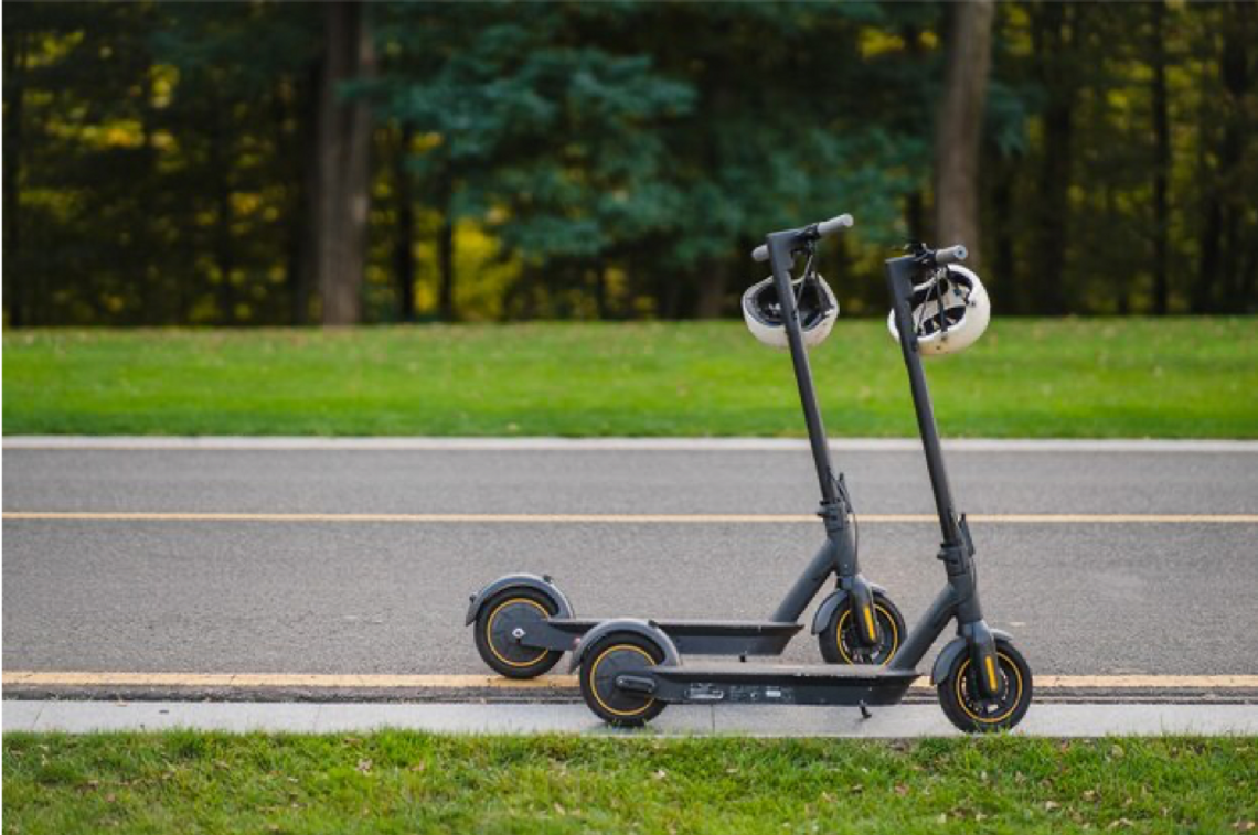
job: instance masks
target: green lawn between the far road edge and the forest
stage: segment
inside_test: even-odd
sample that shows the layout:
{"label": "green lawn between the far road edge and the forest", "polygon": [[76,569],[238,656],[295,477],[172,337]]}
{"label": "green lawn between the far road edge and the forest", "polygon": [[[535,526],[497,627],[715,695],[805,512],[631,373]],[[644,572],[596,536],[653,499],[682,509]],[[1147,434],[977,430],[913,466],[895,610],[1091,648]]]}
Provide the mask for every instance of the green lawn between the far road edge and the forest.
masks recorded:
{"label": "green lawn between the far road edge and the forest", "polygon": [[[915,433],[882,322],[813,353],[834,435]],[[928,363],[949,436],[1258,438],[1258,319],[1003,319]],[[741,323],[0,335],[0,433],[801,435]]]}

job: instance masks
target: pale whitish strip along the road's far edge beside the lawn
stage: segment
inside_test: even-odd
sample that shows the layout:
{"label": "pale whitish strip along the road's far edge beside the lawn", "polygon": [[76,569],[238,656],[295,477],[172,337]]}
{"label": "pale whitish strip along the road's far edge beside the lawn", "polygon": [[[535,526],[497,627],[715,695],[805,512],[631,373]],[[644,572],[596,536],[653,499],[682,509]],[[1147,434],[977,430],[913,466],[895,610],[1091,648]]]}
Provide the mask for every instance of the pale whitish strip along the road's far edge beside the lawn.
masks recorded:
{"label": "pale whitish strip along the road's far edge beside the lawn", "polygon": [[[732,451],[806,450],[804,438],[312,438],[9,435],[0,449],[42,450],[206,450],[206,451]],[[830,449],[852,453],[920,453],[916,438],[839,438]],[[956,453],[1258,453],[1255,440],[1138,438],[957,438],[944,441]]]}

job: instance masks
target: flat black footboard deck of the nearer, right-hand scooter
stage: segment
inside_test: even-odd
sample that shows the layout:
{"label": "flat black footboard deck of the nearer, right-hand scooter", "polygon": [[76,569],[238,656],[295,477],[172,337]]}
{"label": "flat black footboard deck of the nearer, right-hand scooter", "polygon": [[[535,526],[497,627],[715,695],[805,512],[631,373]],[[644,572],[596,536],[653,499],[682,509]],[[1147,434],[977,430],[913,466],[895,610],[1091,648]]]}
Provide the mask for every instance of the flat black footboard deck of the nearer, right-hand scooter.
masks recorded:
{"label": "flat black footboard deck of the nearer, right-hand scooter", "polygon": [[681,664],[626,673],[616,684],[691,704],[896,704],[920,678],[884,666]]}

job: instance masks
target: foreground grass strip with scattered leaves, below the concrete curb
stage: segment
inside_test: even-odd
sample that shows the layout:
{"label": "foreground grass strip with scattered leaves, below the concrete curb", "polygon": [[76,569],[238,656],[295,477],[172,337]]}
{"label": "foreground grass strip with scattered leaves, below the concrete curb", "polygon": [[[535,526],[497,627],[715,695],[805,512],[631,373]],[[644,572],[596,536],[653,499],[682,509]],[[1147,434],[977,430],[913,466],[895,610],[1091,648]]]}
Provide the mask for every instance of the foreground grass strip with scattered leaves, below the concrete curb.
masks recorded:
{"label": "foreground grass strip with scattered leaves, below the concrete curb", "polygon": [[4,832],[1252,831],[1258,739],[0,737]]}

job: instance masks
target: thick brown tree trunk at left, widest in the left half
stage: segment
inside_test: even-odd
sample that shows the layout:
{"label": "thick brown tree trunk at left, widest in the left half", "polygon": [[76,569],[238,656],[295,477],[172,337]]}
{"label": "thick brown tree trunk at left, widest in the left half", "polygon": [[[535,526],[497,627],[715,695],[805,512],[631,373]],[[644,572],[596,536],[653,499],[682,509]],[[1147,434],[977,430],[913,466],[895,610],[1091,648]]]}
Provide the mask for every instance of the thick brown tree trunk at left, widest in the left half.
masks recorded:
{"label": "thick brown tree trunk at left, widest in the left half", "polygon": [[323,0],[325,59],[318,106],[314,275],[323,324],[362,319],[366,270],[371,113],[342,86],[374,64],[367,0]]}

